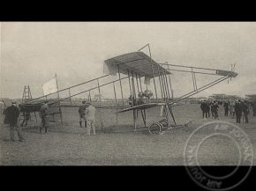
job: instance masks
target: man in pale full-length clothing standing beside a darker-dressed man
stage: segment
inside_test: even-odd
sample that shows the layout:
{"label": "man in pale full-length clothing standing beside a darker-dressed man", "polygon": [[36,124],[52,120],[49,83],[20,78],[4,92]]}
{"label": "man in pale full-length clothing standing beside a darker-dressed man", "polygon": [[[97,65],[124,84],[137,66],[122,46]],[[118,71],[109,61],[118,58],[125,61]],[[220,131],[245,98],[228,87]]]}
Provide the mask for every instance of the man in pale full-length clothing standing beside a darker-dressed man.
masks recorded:
{"label": "man in pale full-length clothing standing beside a darker-dressed man", "polygon": [[92,106],[91,103],[87,103],[88,107],[86,109],[87,114],[87,135],[91,135],[91,129],[93,129],[93,134],[96,136],[95,130],[95,107]]}

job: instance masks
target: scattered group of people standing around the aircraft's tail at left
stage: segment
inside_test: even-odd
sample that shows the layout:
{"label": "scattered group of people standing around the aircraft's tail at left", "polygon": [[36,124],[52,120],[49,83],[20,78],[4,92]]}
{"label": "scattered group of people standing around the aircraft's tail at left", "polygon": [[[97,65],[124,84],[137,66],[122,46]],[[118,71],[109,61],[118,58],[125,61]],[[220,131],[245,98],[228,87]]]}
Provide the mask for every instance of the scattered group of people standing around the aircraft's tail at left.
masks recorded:
{"label": "scattered group of people standing around the aircraft's tail at left", "polygon": [[[95,131],[95,107],[92,106],[90,102],[82,101],[82,106],[79,107],[79,125],[80,128],[83,128],[82,121],[85,122],[85,128],[87,128],[87,135],[90,136],[91,129],[93,131],[93,135],[96,135]],[[30,119],[30,113],[26,109],[23,112],[24,120],[19,124],[19,113],[20,108],[17,106],[16,101],[11,102],[10,107],[6,107],[4,109],[3,114],[4,124],[8,124],[10,127],[10,137],[11,142],[15,141],[14,132],[17,131],[19,136],[19,141],[24,142],[25,138],[23,136],[21,127],[26,126],[27,121]],[[41,105],[39,114],[41,117],[41,125],[39,132],[41,134],[41,130],[44,129],[45,133],[48,133],[49,128],[49,101],[45,100]]]}

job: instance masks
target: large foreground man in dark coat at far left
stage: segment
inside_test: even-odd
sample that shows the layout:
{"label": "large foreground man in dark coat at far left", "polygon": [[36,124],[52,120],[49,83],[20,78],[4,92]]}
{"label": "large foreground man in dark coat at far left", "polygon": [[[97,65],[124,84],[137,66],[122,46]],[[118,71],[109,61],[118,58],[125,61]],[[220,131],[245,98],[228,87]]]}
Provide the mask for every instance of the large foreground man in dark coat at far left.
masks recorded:
{"label": "large foreground man in dark coat at far left", "polygon": [[16,130],[18,133],[19,141],[23,142],[25,139],[22,136],[21,129],[18,125],[19,108],[16,106],[15,101],[12,101],[11,107],[6,108],[5,116],[6,116],[6,120],[7,120],[8,124],[10,125],[11,142],[14,142],[14,130]]}

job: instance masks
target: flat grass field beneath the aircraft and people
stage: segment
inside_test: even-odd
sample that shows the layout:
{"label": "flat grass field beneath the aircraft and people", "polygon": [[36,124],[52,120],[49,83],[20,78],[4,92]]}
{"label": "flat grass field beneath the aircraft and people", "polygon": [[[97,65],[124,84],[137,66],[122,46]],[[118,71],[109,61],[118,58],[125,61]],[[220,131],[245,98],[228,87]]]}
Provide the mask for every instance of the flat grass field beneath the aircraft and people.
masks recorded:
{"label": "flat grass field beneath the aircraft and people", "polygon": [[[39,134],[40,121],[33,119],[23,129],[23,143],[11,143],[9,129],[1,124],[0,165],[184,165],[184,145],[192,131],[213,120],[202,119],[200,105],[175,107],[174,112],[178,124],[192,124],[159,136],[150,135],[147,129],[134,132],[132,112],[118,114],[117,121],[116,109],[103,109],[103,121],[101,110],[96,111],[96,136],[81,135],[86,129],[79,128],[78,108],[63,108],[64,125],[51,122],[49,134]],[[222,107],[219,113],[220,120],[235,122],[223,116]],[[147,110],[147,121],[160,119],[159,109]],[[256,117],[250,114],[249,120],[249,124],[241,123],[239,127],[249,136],[255,153]],[[138,125],[143,126],[140,115]],[[216,137],[202,146],[198,157],[200,165],[237,165],[237,153],[229,139]]]}

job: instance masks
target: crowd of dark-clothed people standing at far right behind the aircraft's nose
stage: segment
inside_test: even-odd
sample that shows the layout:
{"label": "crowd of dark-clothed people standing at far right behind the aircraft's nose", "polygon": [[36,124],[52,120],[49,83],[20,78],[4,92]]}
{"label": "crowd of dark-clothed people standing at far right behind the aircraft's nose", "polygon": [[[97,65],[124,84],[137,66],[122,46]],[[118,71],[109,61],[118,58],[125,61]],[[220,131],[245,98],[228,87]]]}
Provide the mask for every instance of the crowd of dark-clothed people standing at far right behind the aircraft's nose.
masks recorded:
{"label": "crowd of dark-clothed people standing at far right behind the aircraft's nose", "polygon": [[228,117],[231,115],[232,119],[236,116],[237,123],[241,123],[241,118],[245,123],[249,123],[248,115],[250,114],[250,109],[252,108],[253,116],[256,116],[256,101],[248,101],[245,99],[237,100],[224,100],[219,102],[217,100],[203,100],[200,104],[200,109],[202,111],[202,117],[204,119],[210,118],[210,112],[212,118],[219,119],[219,106],[222,104],[224,109],[224,116]]}

